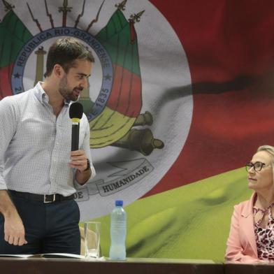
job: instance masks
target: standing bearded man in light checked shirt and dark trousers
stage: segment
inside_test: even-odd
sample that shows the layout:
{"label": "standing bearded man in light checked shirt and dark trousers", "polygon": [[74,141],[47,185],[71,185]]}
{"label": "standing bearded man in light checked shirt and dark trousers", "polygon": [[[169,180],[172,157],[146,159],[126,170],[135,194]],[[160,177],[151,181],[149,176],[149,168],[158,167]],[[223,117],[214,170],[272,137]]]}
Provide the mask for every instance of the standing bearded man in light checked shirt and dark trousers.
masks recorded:
{"label": "standing bearded man in light checked shirt and dark trousers", "polygon": [[0,101],[0,254],[80,254],[75,187],[95,175],[89,123],[71,152],[69,103],[87,88],[94,57],[75,38],[48,52],[45,82]]}

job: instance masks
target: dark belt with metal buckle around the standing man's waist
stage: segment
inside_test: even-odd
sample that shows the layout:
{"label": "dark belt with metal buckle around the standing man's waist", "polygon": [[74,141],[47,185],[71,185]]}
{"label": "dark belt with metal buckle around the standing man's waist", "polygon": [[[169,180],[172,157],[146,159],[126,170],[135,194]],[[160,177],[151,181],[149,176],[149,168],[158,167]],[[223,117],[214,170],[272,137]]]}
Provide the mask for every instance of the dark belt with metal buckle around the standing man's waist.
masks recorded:
{"label": "dark belt with metal buckle around the standing man's waist", "polygon": [[55,201],[66,201],[74,199],[74,195],[71,194],[70,196],[63,196],[61,194],[34,194],[29,192],[16,192],[15,190],[8,190],[12,196],[17,196],[24,198],[28,201],[38,201],[43,203],[53,203]]}

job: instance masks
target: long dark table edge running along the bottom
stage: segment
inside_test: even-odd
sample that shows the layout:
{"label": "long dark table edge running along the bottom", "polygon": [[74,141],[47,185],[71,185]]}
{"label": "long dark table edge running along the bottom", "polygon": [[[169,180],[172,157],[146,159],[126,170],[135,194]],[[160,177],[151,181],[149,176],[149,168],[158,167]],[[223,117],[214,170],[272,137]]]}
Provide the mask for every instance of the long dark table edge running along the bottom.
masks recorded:
{"label": "long dark table edge running along the bottom", "polygon": [[0,258],[1,274],[273,274],[274,264],[222,264],[210,260],[128,258],[127,261]]}

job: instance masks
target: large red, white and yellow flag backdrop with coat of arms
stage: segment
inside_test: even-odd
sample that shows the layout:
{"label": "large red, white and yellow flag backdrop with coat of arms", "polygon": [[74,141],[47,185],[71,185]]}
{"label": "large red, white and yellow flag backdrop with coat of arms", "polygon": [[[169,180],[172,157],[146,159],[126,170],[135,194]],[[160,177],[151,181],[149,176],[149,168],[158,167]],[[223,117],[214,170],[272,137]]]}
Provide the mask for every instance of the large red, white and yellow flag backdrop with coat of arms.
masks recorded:
{"label": "large red, white and yellow flag backdrop with coat of arms", "polygon": [[82,220],[102,222],[102,254],[122,198],[129,257],[222,261],[233,205],[250,196],[242,167],[274,145],[274,2],[48,0],[47,19],[28,3],[0,6],[0,97],[33,86],[31,43],[61,29],[94,50],[98,96],[81,100],[98,175],[77,199]]}

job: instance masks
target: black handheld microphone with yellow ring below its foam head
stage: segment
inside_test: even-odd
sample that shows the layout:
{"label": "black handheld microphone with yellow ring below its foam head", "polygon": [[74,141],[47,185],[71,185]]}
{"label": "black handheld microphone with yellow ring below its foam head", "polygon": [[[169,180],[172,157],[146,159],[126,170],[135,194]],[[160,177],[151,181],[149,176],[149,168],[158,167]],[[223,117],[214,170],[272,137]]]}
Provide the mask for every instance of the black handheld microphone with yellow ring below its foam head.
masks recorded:
{"label": "black handheld microphone with yellow ring below its foam head", "polygon": [[71,151],[79,149],[79,128],[80,128],[80,119],[82,118],[82,113],[84,109],[81,103],[72,103],[69,107],[69,117],[72,122],[72,131],[71,131]]}

